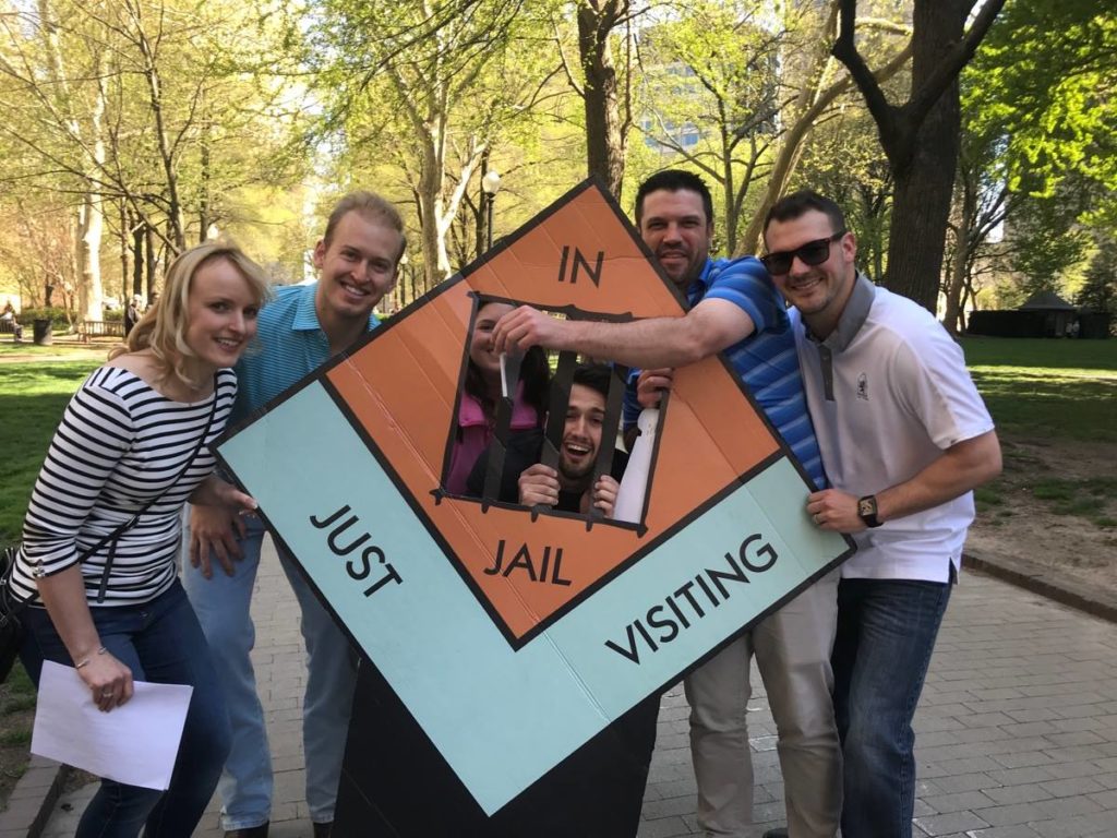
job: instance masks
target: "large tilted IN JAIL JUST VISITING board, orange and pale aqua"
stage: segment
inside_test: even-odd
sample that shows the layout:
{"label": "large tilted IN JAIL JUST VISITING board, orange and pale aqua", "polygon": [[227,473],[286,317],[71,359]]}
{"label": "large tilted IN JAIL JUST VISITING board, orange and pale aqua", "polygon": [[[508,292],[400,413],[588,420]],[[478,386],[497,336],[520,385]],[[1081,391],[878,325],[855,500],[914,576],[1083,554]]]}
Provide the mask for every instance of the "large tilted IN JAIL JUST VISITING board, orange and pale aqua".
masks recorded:
{"label": "large tilted IN JAIL JUST VISITING board, orange and pale aqua", "polygon": [[481,298],[574,317],[684,311],[588,181],[219,453],[490,815],[850,546],[811,525],[798,464],[720,358],[677,372],[639,521],[447,494]]}

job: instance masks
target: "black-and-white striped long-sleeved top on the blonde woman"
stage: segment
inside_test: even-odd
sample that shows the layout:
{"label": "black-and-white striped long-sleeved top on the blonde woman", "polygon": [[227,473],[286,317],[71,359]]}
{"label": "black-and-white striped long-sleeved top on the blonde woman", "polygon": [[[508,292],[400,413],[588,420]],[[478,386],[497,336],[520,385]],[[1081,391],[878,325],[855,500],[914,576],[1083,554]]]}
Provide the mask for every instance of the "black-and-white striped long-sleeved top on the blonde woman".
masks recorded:
{"label": "black-and-white striped long-sleeved top on the blonde woman", "polygon": [[[209,445],[225,429],[236,396],[232,370],[219,371],[213,396],[197,402],[172,401],[118,366],[94,371],[67,406],[35,484],[12,574],[15,594],[36,597],[36,578],[75,564],[156,497],[116,541],[103,602],[97,593],[108,544],[82,562],[82,575],[90,604],[143,603],[165,591],[176,573],[182,506],[213,470]],[[214,399],[206,447],[174,483]]]}

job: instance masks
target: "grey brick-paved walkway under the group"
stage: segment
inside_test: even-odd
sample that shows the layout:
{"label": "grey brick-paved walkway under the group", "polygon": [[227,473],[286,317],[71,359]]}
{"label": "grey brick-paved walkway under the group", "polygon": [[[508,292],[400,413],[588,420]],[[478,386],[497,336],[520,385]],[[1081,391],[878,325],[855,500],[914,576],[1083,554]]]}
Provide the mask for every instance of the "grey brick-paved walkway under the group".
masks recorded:
{"label": "grey brick-paved walkway under the group", "polygon": [[[254,657],[276,769],[271,836],[309,836],[296,607],[277,561],[265,560],[258,584]],[[782,819],[783,784],[762,689],[750,710],[760,836]],[[964,574],[916,730],[919,838],[1117,838],[1117,626]],[[90,793],[66,796],[45,835],[73,835]],[[640,838],[699,835],[694,800],[687,705],[676,687],[659,714]],[[195,835],[221,837],[216,802]]]}

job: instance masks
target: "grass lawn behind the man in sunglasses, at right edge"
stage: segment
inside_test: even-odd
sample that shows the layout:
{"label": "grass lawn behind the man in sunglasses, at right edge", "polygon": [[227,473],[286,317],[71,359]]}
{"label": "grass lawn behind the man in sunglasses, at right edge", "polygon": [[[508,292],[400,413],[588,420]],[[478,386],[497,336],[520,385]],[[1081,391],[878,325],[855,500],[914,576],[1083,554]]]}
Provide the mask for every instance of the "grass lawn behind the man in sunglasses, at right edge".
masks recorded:
{"label": "grass lawn behind the man in sunglasses, at right edge", "polygon": [[1117,442],[1117,340],[966,337],[962,346],[1000,431]]}

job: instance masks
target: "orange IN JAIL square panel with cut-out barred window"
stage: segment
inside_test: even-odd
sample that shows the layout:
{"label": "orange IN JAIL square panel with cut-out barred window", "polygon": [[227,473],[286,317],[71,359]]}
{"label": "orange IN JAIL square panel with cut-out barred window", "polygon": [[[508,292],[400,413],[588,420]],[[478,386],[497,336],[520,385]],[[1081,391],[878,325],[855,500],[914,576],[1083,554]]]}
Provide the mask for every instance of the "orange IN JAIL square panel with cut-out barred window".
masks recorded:
{"label": "orange IN JAIL square panel with cut-out barred window", "polygon": [[[565,278],[558,282],[564,248]],[[582,263],[571,283],[575,249]],[[575,306],[600,317],[676,316],[682,310],[615,208],[591,188],[494,258],[398,315],[327,375],[351,420],[379,449],[428,527],[437,531],[447,560],[458,564],[494,619],[523,638],[775,454],[779,445],[735,375],[718,359],[707,359],[676,377],[660,420],[642,534],[596,523],[591,547],[588,540],[571,537],[584,532],[584,520],[540,515],[533,521],[527,510],[486,510],[478,501],[443,496],[439,479],[464,374],[471,292],[540,308]],[[704,467],[691,468],[693,463]],[[564,546],[572,544],[580,546]],[[505,568],[515,561],[517,572],[486,573],[498,553]]]}

